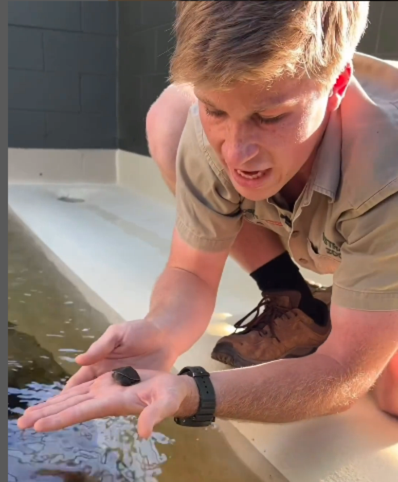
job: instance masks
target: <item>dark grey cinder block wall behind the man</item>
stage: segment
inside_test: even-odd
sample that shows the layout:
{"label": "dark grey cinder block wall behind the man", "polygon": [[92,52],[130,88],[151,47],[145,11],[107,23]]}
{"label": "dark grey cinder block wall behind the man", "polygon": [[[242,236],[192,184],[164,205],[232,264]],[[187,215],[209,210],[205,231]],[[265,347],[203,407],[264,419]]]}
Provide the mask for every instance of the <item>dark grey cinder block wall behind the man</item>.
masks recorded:
{"label": "dark grey cinder block wall behind the man", "polygon": [[[359,50],[398,60],[397,19],[398,1],[370,2]],[[173,20],[171,1],[9,2],[9,147],[148,155]]]}

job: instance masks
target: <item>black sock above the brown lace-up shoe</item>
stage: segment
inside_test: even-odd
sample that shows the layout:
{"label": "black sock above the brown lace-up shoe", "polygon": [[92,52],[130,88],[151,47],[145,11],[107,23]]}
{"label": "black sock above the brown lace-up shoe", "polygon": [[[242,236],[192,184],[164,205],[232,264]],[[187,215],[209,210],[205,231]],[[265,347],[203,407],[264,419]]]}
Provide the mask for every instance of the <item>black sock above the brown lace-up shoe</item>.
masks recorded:
{"label": "black sock above the brown lace-up shoe", "polygon": [[327,323],[327,319],[324,318],[324,307],[320,307],[322,302],[312,296],[309,285],[287,251],[259,267],[250,276],[265,293],[269,290],[299,291],[301,299],[298,308],[310,316],[317,325]]}

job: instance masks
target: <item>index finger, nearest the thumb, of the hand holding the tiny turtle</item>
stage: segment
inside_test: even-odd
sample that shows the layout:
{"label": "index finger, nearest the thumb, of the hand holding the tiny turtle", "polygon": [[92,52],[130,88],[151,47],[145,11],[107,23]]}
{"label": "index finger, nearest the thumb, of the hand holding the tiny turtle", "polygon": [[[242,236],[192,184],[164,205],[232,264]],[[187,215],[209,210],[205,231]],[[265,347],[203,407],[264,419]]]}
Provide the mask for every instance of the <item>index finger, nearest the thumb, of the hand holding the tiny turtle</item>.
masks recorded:
{"label": "index finger, nearest the thumb, of the hand holding the tiny turtle", "polygon": [[36,432],[53,432],[77,423],[112,415],[118,415],[117,409],[112,407],[112,403],[108,403],[106,399],[87,400],[66,408],[56,415],[38,420],[33,428]]}

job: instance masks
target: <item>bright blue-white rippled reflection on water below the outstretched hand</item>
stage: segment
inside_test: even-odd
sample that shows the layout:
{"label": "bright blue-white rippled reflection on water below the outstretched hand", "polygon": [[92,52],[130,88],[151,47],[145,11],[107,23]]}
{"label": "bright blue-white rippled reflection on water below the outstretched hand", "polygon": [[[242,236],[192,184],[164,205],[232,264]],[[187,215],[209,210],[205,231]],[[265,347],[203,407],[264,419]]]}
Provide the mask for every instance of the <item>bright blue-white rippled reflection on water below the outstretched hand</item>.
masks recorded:
{"label": "bright blue-white rippled reflection on water below the outstretched hand", "polygon": [[[57,433],[37,434],[21,432],[16,420],[10,420],[8,472],[20,481],[57,477],[155,482],[166,456],[159,454],[156,437],[137,443],[135,429],[133,419],[101,419]],[[169,443],[166,437],[159,438]]]}

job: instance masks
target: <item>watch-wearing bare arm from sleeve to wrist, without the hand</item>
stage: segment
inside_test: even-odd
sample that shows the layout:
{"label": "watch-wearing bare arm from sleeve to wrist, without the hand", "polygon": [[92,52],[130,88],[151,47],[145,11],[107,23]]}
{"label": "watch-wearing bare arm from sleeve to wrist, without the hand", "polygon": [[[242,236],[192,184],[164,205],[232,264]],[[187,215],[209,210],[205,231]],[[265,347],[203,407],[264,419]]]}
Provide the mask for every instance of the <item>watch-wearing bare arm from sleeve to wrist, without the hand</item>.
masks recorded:
{"label": "watch-wearing bare arm from sleeve to wrist, without the hand", "polygon": [[[375,383],[398,350],[398,312],[360,312],[334,306],[333,331],[318,352],[301,359],[214,372],[216,416],[285,423],[348,409]],[[195,413],[191,396],[179,416]]]}

